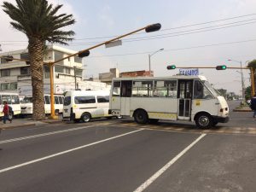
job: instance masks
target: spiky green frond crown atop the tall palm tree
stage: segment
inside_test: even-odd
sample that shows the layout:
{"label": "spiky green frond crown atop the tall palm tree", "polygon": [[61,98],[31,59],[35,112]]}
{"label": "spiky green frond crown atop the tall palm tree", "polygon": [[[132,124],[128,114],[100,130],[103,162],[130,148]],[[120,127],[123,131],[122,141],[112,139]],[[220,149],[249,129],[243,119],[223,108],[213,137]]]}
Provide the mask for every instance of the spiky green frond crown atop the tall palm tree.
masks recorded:
{"label": "spiky green frond crown atop the tall palm tree", "polygon": [[73,31],[61,31],[65,26],[73,25],[73,15],[56,15],[62,5],[53,7],[47,0],[16,0],[17,5],[3,2],[3,11],[14,20],[11,25],[27,38],[38,38],[42,42],[67,44],[73,40]]}

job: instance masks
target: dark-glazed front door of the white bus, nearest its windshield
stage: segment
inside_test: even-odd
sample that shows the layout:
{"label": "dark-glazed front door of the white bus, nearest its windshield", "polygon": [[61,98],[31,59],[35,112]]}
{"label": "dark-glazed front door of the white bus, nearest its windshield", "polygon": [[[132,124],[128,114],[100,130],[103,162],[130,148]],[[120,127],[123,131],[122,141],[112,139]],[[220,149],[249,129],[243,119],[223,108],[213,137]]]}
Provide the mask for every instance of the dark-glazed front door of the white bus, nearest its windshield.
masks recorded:
{"label": "dark-glazed front door of the white bus, nearest its windshield", "polygon": [[192,80],[178,80],[177,119],[190,119],[192,92],[193,92]]}

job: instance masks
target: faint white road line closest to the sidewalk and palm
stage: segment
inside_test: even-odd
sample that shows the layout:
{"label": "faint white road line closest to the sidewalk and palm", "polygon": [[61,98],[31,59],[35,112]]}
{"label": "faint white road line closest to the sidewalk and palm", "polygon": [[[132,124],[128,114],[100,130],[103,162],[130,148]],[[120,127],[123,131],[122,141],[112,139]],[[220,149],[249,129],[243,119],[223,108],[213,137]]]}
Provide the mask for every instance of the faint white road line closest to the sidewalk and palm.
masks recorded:
{"label": "faint white road line closest to the sidewalk and palm", "polygon": [[0,141],[0,144],[2,144],[2,143],[17,142],[17,141],[21,141],[21,140],[25,140],[25,139],[36,138],[36,137],[50,136],[50,135],[55,135],[55,134],[63,133],[63,132],[78,131],[78,130],[82,130],[82,129],[86,129],[86,128],[91,128],[91,127],[94,127],[94,125],[82,126],[82,127],[72,128],[72,129],[67,129],[67,130],[46,132],[46,133],[42,133],[42,134],[38,134],[38,135],[32,135],[32,136],[26,136],[26,137],[18,137],[18,138],[3,140],[3,141]]}

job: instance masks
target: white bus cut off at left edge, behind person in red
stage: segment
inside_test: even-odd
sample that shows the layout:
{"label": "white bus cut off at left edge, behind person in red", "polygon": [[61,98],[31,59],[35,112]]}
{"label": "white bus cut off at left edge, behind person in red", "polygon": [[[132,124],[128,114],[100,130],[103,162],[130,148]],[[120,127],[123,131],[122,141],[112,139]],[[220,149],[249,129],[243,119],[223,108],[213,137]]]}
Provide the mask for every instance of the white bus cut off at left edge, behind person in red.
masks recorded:
{"label": "white bus cut off at left edge, behind person in red", "polygon": [[0,117],[3,117],[3,102],[7,102],[13,110],[9,114],[10,118],[20,114],[20,98],[18,93],[0,92]]}

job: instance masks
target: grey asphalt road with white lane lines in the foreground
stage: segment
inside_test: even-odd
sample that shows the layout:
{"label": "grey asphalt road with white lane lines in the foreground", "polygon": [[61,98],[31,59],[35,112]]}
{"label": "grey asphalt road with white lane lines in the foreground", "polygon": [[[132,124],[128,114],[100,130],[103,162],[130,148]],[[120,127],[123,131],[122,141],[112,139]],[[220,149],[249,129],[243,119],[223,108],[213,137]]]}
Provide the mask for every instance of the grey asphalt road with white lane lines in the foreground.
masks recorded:
{"label": "grey asphalt road with white lane lines in the foreground", "polygon": [[0,191],[256,191],[255,134],[155,126],[166,127],[96,120],[4,130]]}

